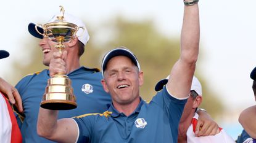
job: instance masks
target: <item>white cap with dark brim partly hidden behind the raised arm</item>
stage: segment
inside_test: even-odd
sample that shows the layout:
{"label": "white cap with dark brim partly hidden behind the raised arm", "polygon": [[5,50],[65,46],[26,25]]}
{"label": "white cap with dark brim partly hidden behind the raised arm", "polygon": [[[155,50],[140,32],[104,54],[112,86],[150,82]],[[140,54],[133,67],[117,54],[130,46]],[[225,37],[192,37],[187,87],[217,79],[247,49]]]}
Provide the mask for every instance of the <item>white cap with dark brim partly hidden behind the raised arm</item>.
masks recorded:
{"label": "white cap with dark brim partly hidden behind the raised arm", "polygon": [[[162,79],[159,82],[157,82],[157,84],[155,85],[155,91],[162,90],[163,86],[167,84],[168,79],[169,79],[169,75],[167,76],[167,78]],[[191,84],[191,89],[190,90],[191,91],[194,90],[194,91],[196,91],[196,93],[199,96],[202,96],[202,85],[201,85],[201,83],[199,82],[199,80],[195,76],[193,76],[192,84]]]}

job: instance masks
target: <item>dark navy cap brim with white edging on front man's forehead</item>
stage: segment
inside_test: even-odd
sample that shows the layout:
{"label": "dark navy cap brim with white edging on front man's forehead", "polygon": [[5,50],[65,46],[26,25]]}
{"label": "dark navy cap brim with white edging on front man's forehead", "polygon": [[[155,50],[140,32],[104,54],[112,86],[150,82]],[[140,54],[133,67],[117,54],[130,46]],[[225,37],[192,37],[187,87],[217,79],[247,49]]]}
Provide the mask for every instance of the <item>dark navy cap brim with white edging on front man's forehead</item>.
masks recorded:
{"label": "dark navy cap brim with white edging on front man's forehead", "polygon": [[133,55],[133,53],[131,53],[129,50],[126,50],[125,48],[115,48],[114,50],[107,53],[107,55],[105,55],[104,59],[102,60],[102,72],[105,71],[109,60],[115,56],[127,56],[139,68],[139,71],[141,70],[138,60],[136,59],[135,55]]}

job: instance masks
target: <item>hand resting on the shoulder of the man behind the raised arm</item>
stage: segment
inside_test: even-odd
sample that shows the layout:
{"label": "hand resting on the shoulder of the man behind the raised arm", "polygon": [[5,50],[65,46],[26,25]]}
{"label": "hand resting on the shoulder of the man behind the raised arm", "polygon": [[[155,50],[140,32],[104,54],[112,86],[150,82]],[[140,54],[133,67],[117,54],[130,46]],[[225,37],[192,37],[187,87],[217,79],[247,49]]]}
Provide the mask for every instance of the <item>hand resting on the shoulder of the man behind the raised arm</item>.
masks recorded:
{"label": "hand resting on the shoulder of the man behind the raised arm", "polygon": [[213,136],[220,133],[218,124],[205,111],[198,110],[199,118],[196,125],[196,136]]}

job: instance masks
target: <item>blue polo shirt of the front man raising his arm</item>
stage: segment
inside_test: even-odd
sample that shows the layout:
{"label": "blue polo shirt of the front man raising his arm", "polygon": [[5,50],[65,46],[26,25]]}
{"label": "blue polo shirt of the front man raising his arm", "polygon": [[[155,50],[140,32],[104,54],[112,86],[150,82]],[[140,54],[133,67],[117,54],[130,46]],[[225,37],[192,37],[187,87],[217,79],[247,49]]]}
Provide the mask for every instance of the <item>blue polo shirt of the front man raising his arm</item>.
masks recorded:
{"label": "blue polo shirt of the front man raising his arm", "polygon": [[141,99],[128,117],[113,105],[103,114],[75,117],[78,142],[177,142],[178,124],[186,101],[173,98],[164,87],[150,103]]}

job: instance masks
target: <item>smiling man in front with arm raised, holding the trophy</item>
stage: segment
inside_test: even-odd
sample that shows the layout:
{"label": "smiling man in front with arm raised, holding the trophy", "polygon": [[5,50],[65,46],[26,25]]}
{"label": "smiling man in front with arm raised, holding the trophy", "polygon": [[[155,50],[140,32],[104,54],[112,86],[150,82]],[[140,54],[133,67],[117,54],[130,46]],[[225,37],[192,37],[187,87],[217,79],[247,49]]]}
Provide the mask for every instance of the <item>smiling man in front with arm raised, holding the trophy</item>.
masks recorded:
{"label": "smiling man in front with arm raised, holding the trophy", "polygon": [[57,110],[40,108],[39,136],[56,142],[177,142],[178,123],[189,97],[199,53],[197,2],[184,1],[181,55],[171,69],[171,80],[151,102],[146,103],[139,96],[143,72],[138,59],[127,48],[118,47],[102,60],[101,83],[112,97],[109,109],[103,114],[57,120]]}

